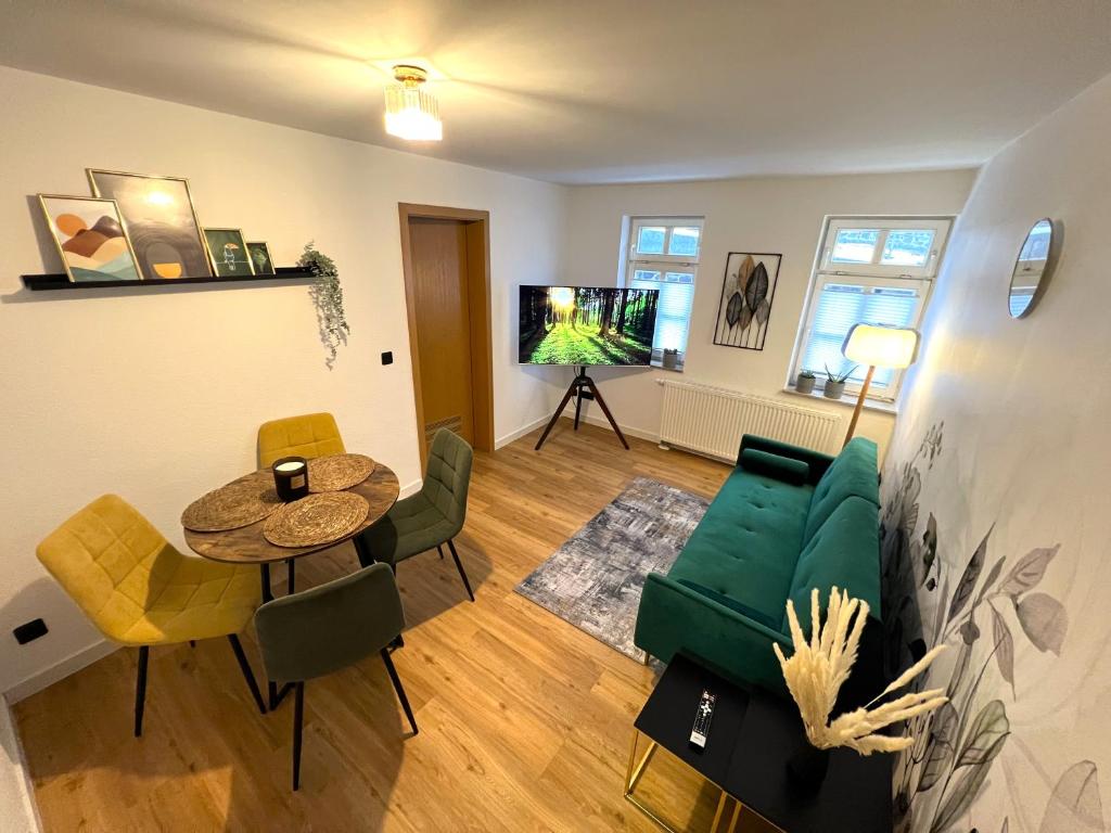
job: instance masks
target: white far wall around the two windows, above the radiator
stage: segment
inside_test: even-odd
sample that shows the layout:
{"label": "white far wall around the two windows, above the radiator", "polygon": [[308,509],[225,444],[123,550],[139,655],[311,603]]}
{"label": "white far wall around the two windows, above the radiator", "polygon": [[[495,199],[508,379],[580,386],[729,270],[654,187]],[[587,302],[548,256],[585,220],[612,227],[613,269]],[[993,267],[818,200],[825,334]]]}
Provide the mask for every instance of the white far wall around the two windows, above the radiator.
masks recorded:
{"label": "white far wall around the two windows, above the radiator", "polygon": [[[652,380],[662,377],[783,395],[795,404],[835,412],[848,426],[851,409],[845,405],[781,393],[825,215],[955,214],[974,175],[960,170],[571,189],[564,277],[574,284],[613,284],[623,217],[705,217],[685,372],[675,377],[660,370],[592,371],[618,422],[659,435],[662,389]],[[731,251],[783,255],[763,351],[713,344],[722,273]],[[882,453],[893,421],[890,414],[865,412],[858,433],[880,443]]]}

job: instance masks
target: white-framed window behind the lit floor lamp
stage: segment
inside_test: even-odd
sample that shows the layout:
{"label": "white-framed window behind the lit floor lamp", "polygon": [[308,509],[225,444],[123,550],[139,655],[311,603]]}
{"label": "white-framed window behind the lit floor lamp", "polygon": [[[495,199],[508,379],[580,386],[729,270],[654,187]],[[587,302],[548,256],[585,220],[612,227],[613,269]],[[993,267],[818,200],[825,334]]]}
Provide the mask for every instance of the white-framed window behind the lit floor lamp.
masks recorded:
{"label": "white-framed window behind the lit floor lamp", "polygon": [[[831,218],[819,249],[789,384],[802,370],[819,383],[825,369],[844,373],[852,362],[841,345],[855,323],[917,328],[938,273],[952,220],[948,218]],[[859,392],[868,368],[847,388]],[[902,372],[877,368],[869,399],[894,401]]]}

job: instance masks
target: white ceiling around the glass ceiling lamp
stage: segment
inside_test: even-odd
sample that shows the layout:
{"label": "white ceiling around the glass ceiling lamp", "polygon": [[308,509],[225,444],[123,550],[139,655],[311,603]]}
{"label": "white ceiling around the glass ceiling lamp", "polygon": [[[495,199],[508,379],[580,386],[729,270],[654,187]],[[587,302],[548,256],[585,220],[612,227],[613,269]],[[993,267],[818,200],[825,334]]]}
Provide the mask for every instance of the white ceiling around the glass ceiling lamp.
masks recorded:
{"label": "white ceiling around the glass ceiling lamp", "polygon": [[[441,143],[382,129],[411,56]],[[0,0],[0,62],[556,182],[912,170],[1111,72],[1111,2]]]}

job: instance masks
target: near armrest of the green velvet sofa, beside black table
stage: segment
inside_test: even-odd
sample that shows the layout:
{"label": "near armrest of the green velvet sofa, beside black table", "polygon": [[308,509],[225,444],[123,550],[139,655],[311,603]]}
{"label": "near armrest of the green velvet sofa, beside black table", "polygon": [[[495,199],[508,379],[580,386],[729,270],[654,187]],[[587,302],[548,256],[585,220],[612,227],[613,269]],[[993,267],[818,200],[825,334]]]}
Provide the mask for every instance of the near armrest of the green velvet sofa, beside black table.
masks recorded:
{"label": "near armrest of the green velvet sofa, beside black table", "polygon": [[633,642],[665,663],[683,653],[730,680],[787,691],[771,648],[790,655],[787,636],[660,573],[644,582]]}

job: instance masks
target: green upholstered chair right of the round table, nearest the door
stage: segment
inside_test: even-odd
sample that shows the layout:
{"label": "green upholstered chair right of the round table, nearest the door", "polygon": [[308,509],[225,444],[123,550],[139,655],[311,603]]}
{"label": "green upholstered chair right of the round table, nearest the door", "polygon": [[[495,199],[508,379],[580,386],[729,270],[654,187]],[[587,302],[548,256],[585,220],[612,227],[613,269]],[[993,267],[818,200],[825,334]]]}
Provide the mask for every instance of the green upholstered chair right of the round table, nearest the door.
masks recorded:
{"label": "green upholstered chair right of the round table, nearest the door", "polygon": [[459,560],[452,539],[463,528],[467,516],[467,490],[471,482],[474,452],[459,434],[437,431],[428,455],[428,473],[421,490],[398,501],[386,516],[357,539],[359,561],[366,566],[376,561],[397,565],[431,550],[443,558],[443,544],[451,550],[467,595],[474,601],[471,583]]}

